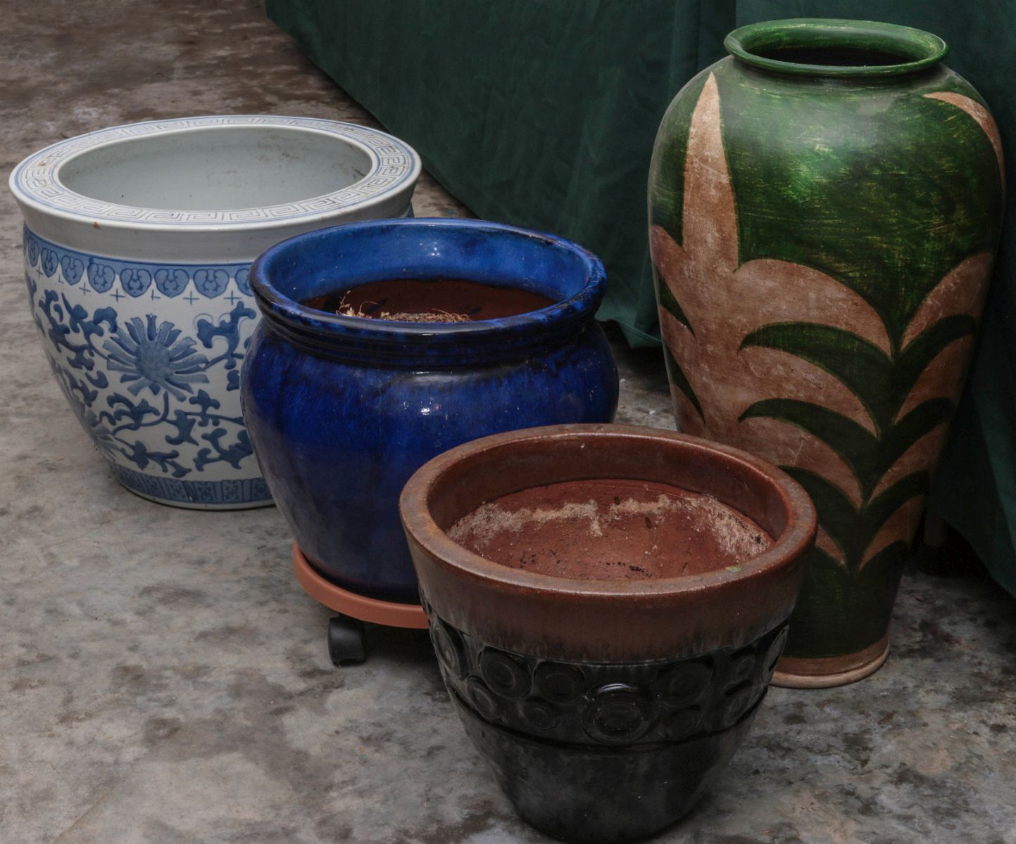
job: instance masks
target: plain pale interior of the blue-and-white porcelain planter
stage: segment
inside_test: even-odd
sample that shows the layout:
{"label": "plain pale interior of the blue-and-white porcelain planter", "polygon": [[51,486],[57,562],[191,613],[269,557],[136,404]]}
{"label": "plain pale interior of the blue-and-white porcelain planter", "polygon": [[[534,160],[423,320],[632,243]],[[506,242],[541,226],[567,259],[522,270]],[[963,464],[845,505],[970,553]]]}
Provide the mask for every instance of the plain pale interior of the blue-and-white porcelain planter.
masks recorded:
{"label": "plain pale interior of the blue-and-white porcelain planter", "polygon": [[223,126],[129,138],[60,167],[71,191],[104,202],[176,211],[282,205],[330,194],[371,167],[334,135],[283,126]]}

